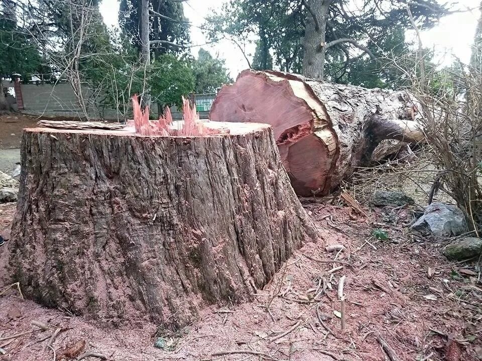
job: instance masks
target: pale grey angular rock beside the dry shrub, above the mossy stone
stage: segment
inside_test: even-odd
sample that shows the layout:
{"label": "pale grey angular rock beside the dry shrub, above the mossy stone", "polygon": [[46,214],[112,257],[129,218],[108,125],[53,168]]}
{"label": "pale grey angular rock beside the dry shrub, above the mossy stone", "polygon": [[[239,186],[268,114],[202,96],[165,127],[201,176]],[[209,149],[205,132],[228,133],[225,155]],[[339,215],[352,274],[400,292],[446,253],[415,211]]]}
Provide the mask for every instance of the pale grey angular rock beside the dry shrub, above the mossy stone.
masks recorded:
{"label": "pale grey angular rock beside the dry shrub, above the mossy stone", "polygon": [[438,237],[458,236],[468,232],[463,212],[455,206],[439,202],[429,205],[411,228]]}

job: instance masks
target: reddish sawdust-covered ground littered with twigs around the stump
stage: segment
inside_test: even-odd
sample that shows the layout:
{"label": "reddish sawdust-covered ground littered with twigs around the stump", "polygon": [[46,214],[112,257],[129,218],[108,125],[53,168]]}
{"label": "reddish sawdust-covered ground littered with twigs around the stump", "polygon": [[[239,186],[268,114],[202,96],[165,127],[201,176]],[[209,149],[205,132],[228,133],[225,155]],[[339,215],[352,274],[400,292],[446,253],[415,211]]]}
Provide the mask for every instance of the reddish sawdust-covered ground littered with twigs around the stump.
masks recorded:
{"label": "reddish sawdust-covered ground littered with twigs around the stump", "polygon": [[[14,207],[0,205],[0,233],[9,227]],[[66,347],[85,340],[85,351],[101,352],[109,360],[119,361],[382,361],[388,358],[377,340],[378,334],[402,361],[469,361],[482,357],[482,289],[475,263],[450,265],[440,256],[439,245],[404,235],[400,226],[376,225],[387,218],[380,211],[366,219],[348,208],[316,203],[305,208],[324,229],[324,241],[305,245],[271,285],[254,296],[253,302],[212,306],[190,327],[177,333],[158,334],[163,337],[164,350],[153,347],[153,324],[140,325],[133,320],[135,327],[114,330],[73,316],[68,310],[23,301],[16,289],[10,289],[0,297],[0,347],[8,352],[4,359],[54,359],[52,350],[46,347],[48,339],[40,341],[52,331],[33,327],[32,320],[62,328],[52,345],[57,357]],[[407,213],[398,214],[398,224]],[[371,239],[371,244],[365,243],[374,227],[385,228],[390,241]],[[343,244],[349,252],[340,253],[338,260],[345,263],[312,260],[335,258],[335,254],[324,250],[325,244]],[[0,266],[5,263],[7,251],[5,246],[0,247]],[[330,273],[334,266],[343,268]],[[427,277],[428,267],[434,271],[431,278]],[[336,288],[342,275],[347,277],[344,332],[333,312],[340,309]],[[325,292],[323,283],[328,287]],[[0,290],[5,287],[0,285]],[[22,335],[9,338],[18,333]],[[447,342],[448,339],[453,341]],[[236,352],[228,354],[233,350]],[[223,351],[225,355],[216,354]]]}

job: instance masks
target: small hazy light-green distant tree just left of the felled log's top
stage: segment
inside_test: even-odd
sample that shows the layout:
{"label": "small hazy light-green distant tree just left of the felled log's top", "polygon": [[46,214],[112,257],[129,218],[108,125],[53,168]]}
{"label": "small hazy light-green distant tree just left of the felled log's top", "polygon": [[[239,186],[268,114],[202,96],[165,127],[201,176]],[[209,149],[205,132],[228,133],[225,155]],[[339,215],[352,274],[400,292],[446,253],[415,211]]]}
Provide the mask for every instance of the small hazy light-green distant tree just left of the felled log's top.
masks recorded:
{"label": "small hazy light-green distant tree just left of the felled log's top", "polygon": [[198,58],[192,61],[195,77],[194,91],[198,94],[213,93],[222,84],[231,83],[224,60],[214,59],[209,52],[199,49]]}

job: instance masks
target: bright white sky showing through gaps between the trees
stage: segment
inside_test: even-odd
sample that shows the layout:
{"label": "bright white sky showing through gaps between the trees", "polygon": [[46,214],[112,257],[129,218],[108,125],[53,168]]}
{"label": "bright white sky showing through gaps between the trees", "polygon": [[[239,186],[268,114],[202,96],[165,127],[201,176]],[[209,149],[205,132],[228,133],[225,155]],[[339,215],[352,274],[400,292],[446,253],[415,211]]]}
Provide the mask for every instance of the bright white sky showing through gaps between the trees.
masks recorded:
{"label": "bright white sky showing through gaps between the trees", "polygon": [[[209,16],[211,9],[220,8],[225,2],[226,0],[188,0],[184,3],[184,14],[193,25],[191,27],[192,44],[202,45],[202,48],[208,50],[213,56],[225,59],[226,67],[230,70],[231,77],[235,79],[241,70],[248,68],[243,53],[228,40],[203,45],[207,40],[202,31],[196,27],[203,25],[204,19]],[[480,0],[460,0],[458,3],[463,7],[478,8]],[[118,0],[102,0],[100,13],[107,26],[117,26],[118,8]],[[450,54],[452,53],[463,62],[468,62],[470,46],[479,16],[479,12],[475,10],[442,18],[437,27],[422,33],[423,45],[433,47],[438,54],[437,60],[444,65],[451,63]],[[409,37],[412,36],[414,37],[414,33],[410,32]],[[193,55],[197,56],[198,49],[192,49]],[[253,55],[254,49],[255,45],[251,44],[248,45],[245,52]]]}

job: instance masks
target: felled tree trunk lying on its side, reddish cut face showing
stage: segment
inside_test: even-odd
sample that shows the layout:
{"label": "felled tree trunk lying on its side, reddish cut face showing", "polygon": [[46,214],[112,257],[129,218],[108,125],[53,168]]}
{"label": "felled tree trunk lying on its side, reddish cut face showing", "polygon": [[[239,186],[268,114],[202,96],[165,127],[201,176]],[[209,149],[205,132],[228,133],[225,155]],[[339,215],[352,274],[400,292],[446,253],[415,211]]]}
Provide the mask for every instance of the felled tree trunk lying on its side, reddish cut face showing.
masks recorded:
{"label": "felled tree trunk lying on its side, reddish cut face showing", "polygon": [[295,192],[326,195],[368,163],[381,140],[424,140],[414,104],[403,92],[245,70],[220,90],[210,119],[271,124]]}

